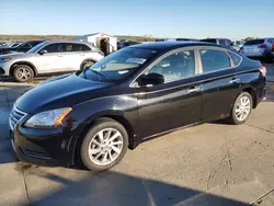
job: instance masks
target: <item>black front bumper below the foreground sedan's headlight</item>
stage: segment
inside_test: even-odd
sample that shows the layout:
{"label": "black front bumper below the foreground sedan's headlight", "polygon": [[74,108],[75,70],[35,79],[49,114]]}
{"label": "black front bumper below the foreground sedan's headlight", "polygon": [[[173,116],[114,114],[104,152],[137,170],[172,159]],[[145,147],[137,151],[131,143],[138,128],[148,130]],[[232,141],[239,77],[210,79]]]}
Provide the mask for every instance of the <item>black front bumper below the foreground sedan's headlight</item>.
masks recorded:
{"label": "black front bumper below the foreground sedan's headlight", "polygon": [[71,139],[60,130],[23,128],[18,124],[11,130],[13,150],[19,160],[42,165],[72,165]]}

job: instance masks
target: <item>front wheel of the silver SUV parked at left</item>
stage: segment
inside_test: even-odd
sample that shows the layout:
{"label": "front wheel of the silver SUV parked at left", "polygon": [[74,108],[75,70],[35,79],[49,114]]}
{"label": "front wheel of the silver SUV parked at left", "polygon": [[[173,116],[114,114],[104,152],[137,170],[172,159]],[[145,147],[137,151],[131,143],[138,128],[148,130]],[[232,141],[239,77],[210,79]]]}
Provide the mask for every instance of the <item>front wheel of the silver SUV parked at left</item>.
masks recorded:
{"label": "front wheel of the silver SUV parked at left", "polygon": [[27,65],[19,65],[13,70],[12,76],[18,82],[28,82],[33,80],[34,71]]}

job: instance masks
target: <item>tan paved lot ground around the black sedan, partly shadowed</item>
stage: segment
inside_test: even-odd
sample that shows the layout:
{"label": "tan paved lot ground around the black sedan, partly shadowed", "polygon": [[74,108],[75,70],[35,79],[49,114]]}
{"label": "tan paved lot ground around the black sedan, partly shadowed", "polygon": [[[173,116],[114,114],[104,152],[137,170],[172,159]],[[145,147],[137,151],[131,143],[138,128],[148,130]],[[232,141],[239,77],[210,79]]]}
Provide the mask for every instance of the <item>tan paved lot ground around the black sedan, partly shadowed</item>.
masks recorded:
{"label": "tan paved lot ground around the black sedan, partly shadowed", "polygon": [[28,87],[0,83],[0,205],[274,205],[273,82],[247,124],[210,123],[162,136],[101,173],[16,161],[8,116]]}

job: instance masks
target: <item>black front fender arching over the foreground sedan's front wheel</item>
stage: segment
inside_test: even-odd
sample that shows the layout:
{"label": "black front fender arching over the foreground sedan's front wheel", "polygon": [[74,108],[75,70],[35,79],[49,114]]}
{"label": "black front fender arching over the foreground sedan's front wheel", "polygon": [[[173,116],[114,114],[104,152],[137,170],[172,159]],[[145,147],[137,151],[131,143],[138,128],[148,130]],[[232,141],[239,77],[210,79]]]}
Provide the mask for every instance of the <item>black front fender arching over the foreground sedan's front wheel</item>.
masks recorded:
{"label": "black front fender arching over the foreground sedan's front wheel", "polygon": [[73,106],[67,118],[67,123],[71,125],[71,134],[73,134],[70,136],[70,144],[67,149],[75,151],[76,144],[84,130],[88,129],[96,118],[105,116],[114,117],[114,119],[115,117],[125,119],[125,123],[122,124],[125,127],[129,127],[126,128],[130,130],[128,131],[130,133],[129,138],[134,138],[129,139],[129,142],[130,140],[135,144],[139,142],[137,96],[124,94],[99,98]]}

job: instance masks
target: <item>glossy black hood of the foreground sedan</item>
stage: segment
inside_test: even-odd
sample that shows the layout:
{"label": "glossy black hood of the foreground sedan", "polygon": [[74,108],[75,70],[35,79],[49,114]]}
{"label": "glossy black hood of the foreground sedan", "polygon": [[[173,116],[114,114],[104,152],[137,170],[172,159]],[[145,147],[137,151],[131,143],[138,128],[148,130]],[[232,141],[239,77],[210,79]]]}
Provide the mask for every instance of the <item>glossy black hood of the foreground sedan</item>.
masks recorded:
{"label": "glossy black hood of the foreground sedan", "polygon": [[15,102],[15,106],[28,114],[72,107],[103,95],[102,90],[113,83],[95,82],[78,77],[76,73],[56,77],[33,87]]}

